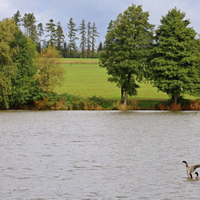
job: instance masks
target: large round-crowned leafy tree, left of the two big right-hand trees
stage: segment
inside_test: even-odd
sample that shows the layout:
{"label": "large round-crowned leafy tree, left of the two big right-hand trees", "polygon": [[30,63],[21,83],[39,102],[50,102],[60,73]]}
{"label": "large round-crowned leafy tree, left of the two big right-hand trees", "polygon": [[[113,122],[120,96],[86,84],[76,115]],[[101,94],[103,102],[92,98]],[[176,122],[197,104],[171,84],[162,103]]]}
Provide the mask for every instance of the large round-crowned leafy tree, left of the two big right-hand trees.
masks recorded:
{"label": "large round-crowned leafy tree, left of the two big right-hand trees", "polygon": [[136,80],[143,77],[143,64],[154,27],[148,20],[149,13],[143,12],[142,6],[132,4],[110,25],[104,52],[100,56],[100,66],[107,69],[109,81],[117,83],[122,96],[125,91],[125,105],[128,94],[137,93],[139,85]]}

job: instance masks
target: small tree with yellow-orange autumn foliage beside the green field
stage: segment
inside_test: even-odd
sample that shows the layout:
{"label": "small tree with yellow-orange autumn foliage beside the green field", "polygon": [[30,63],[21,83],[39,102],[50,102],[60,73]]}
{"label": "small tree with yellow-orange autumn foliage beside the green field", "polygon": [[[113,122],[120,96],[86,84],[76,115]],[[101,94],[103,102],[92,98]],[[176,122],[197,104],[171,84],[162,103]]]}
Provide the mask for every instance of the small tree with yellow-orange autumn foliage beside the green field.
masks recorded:
{"label": "small tree with yellow-orange autumn foliage beside the green field", "polygon": [[54,46],[43,49],[38,55],[38,74],[35,78],[39,81],[40,89],[46,93],[62,85],[64,68],[60,65],[60,52]]}

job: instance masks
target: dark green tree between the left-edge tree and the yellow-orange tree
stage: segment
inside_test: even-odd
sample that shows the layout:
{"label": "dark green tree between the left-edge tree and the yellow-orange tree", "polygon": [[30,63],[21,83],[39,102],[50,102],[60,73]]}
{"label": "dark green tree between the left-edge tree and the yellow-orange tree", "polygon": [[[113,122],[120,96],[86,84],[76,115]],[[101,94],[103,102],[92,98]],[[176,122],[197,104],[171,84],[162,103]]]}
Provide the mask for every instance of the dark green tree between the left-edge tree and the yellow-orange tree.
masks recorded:
{"label": "dark green tree between the left-edge tree and the yellow-orange tree", "polygon": [[21,30],[18,30],[10,47],[15,49],[12,59],[16,63],[17,70],[15,76],[11,78],[9,104],[13,107],[19,107],[33,102],[36,90],[34,75],[37,72],[37,68],[34,65],[36,43],[23,35]]}

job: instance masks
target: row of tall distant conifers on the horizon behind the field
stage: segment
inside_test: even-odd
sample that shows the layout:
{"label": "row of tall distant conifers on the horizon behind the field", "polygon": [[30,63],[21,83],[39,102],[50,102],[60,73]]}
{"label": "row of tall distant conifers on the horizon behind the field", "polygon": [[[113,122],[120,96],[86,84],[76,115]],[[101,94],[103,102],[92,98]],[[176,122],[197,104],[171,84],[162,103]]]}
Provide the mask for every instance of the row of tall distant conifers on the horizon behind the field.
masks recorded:
{"label": "row of tall distant conifers on the horizon behind the field", "polygon": [[[45,25],[37,23],[34,13],[25,13],[21,16],[18,10],[14,14],[16,25],[24,30],[33,42],[37,43],[37,51],[49,45],[55,45],[64,58],[97,58],[103,49],[102,42],[96,44],[99,37],[95,23],[86,23],[83,19],[79,27],[73,18],[67,23],[68,32],[64,33],[60,22],[57,24],[50,19]],[[78,44],[78,45],[77,45]]]}

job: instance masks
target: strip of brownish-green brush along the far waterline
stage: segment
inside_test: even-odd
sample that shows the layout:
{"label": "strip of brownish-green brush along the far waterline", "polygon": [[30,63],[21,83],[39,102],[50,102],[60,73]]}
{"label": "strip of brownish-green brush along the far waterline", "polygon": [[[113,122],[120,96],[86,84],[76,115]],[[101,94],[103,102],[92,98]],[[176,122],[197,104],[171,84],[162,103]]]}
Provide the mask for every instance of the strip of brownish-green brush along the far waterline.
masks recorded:
{"label": "strip of brownish-green brush along the far waterline", "polygon": [[100,105],[98,102],[91,101],[90,99],[75,99],[72,102],[65,100],[51,101],[49,98],[38,100],[34,105],[26,107],[22,106],[20,109],[30,110],[168,110],[168,111],[181,111],[181,110],[200,110],[200,101],[191,101],[188,104],[165,104],[159,103],[157,105],[144,106],[142,102],[136,100],[129,100],[127,106],[121,104],[120,100],[111,102],[108,106]]}

